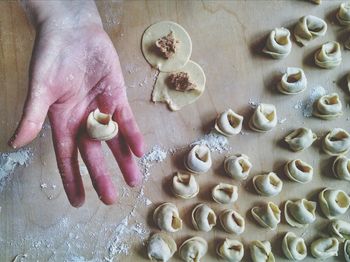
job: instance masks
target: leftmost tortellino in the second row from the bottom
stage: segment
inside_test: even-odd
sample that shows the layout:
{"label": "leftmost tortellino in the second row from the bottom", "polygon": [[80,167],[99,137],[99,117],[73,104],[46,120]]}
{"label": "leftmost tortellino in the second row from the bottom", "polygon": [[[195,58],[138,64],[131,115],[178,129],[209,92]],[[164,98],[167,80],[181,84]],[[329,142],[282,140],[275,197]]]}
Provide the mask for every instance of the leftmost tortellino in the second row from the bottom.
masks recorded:
{"label": "leftmost tortellino in the second row from the bottom", "polygon": [[182,220],[179,210],[172,203],[164,203],[158,206],[153,213],[154,223],[167,232],[176,232],[182,228]]}

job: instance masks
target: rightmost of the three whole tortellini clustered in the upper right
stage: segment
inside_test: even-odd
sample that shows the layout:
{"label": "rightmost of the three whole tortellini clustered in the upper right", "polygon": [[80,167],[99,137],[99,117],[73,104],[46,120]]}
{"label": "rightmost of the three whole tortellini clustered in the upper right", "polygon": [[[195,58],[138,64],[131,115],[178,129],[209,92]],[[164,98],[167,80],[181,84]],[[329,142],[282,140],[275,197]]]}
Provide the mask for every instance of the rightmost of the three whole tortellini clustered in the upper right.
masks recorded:
{"label": "rightmost of the three whole tortellini clustered in the upper right", "polygon": [[340,45],[335,41],[323,44],[315,53],[315,63],[321,68],[334,68],[340,65],[341,60]]}

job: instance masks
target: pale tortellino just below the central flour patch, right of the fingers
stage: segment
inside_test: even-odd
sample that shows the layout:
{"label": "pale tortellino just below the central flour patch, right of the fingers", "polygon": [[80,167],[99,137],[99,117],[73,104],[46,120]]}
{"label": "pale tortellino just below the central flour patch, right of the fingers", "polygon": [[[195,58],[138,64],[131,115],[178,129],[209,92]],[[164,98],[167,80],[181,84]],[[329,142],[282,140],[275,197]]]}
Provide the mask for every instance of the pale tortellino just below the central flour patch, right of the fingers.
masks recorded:
{"label": "pale tortellino just below the central flour patch, right of the fingers", "polygon": [[193,173],[205,173],[211,164],[210,150],[205,145],[195,145],[185,158],[185,167]]}

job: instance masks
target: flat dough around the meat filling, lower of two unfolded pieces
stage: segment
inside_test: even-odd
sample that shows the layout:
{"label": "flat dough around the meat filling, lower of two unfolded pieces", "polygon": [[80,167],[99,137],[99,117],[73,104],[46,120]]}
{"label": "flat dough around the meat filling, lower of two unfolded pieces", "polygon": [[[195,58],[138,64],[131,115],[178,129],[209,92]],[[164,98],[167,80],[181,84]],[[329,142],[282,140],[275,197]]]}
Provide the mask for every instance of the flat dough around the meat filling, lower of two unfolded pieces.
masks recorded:
{"label": "flat dough around the meat filling, lower of two unfolded pieces", "polygon": [[165,102],[172,111],[177,111],[194,103],[202,95],[206,81],[203,69],[197,63],[188,61],[179,72],[187,73],[196,88],[185,92],[175,90],[168,80],[173,73],[160,72],[152,93],[153,102]]}

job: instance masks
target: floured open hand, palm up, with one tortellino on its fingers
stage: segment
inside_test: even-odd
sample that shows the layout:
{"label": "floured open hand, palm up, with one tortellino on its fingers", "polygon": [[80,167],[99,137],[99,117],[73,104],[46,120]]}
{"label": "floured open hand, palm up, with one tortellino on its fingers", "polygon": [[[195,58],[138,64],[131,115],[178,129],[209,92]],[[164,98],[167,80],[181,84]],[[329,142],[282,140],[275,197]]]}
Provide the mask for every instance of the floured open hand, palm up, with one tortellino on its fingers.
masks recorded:
{"label": "floured open hand, palm up, with one tortellino on its fingers", "polygon": [[118,54],[103,30],[95,3],[27,0],[23,5],[37,35],[23,115],[9,144],[19,148],[30,143],[48,115],[58,169],[71,205],[79,207],[85,199],[78,151],[99,198],[113,204],[117,192],[101,142],[86,134],[87,116],[98,107],[118,123],[119,133],[107,145],[130,186],[141,182],[134,155],[143,155],[144,142],[127,100]]}

